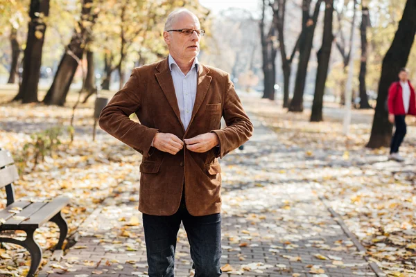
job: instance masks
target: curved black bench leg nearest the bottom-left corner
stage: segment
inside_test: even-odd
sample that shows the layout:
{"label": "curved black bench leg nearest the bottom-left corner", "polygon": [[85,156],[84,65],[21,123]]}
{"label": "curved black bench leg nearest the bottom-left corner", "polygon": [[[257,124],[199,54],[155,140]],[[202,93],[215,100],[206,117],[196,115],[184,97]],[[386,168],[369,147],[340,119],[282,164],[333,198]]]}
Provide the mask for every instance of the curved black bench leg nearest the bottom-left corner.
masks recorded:
{"label": "curved black bench leg nearest the bottom-left corner", "polygon": [[0,242],[17,244],[28,249],[31,254],[31,268],[28,271],[27,277],[33,277],[35,276],[37,268],[40,266],[40,262],[42,261],[42,249],[40,249],[39,244],[37,244],[37,242],[35,242],[35,238],[33,238],[35,229],[27,230],[25,232],[27,234],[26,240],[15,240],[14,238],[0,237]]}

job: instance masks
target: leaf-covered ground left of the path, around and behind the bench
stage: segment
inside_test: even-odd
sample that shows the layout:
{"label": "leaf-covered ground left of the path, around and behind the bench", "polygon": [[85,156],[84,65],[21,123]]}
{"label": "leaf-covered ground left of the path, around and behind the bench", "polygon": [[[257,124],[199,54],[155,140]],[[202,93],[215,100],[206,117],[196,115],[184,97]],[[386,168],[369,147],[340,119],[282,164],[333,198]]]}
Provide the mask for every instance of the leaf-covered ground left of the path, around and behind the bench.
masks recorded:
{"label": "leaf-covered ground left of the path, around and behind the bench", "polygon": [[[3,97],[3,100],[6,97]],[[74,121],[75,136],[70,143],[69,126],[74,96],[68,107],[47,107],[3,103],[0,105],[0,148],[9,150],[19,166],[20,179],[15,182],[17,199],[47,199],[57,195],[67,195],[71,204],[63,213],[69,223],[69,237],[78,226],[107,197],[116,195],[114,188],[132,170],[136,170],[141,155],[116,139],[105,134],[98,127],[96,141],[92,141],[94,124],[92,102],[80,105]],[[43,162],[33,168],[33,149],[24,151],[26,143],[33,143],[31,134],[52,127],[62,127],[58,136],[61,145]],[[29,160],[29,161],[28,161]],[[27,161],[21,163],[19,161]],[[6,205],[6,193],[0,192],[0,208]],[[24,236],[24,232],[17,232]],[[58,241],[55,224],[45,224],[35,233],[35,239],[44,251],[43,263],[51,256],[51,249]],[[28,270],[28,252],[13,244],[4,244],[0,249],[0,274],[19,276]]]}

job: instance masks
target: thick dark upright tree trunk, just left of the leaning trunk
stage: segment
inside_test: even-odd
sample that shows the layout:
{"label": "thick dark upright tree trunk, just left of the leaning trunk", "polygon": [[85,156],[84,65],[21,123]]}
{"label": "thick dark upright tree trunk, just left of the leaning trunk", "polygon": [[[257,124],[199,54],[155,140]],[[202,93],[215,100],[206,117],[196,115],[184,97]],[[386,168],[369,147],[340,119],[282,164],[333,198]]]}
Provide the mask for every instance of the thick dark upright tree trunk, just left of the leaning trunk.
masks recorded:
{"label": "thick dark upright tree trunk, just left of the leaning trunk", "polygon": [[24,49],[23,76],[19,93],[13,100],[21,100],[24,103],[37,102],[37,84],[40,78],[40,65],[42,62],[42,48],[46,24],[39,17],[42,13],[49,15],[49,0],[31,0],[28,24],[28,39]]}

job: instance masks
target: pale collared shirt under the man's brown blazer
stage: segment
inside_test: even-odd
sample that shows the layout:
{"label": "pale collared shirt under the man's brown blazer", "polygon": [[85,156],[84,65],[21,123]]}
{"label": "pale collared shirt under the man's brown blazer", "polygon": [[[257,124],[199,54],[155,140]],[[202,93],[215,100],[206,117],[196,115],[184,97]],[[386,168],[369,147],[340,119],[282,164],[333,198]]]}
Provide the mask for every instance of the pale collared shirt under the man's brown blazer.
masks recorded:
{"label": "pale collared shirt under the man's brown blazer", "polygon": [[199,66],[198,58],[195,57],[193,60],[191,70],[187,73],[187,75],[184,75],[170,54],[168,57],[168,63],[169,69],[171,69],[173,86],[175,87],[177,105],[179,106],[180,111],[180,120],[186,130],[188,129],[189,122],[191,121],[193,104],[195,103],[196,98]]}

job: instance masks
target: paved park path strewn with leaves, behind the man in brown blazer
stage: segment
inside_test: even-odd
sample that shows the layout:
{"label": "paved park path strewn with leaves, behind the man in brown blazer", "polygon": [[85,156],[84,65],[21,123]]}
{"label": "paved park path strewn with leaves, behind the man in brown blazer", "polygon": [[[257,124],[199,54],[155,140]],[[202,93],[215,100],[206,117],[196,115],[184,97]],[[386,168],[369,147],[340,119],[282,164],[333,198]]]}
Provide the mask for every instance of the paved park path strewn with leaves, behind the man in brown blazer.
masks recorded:
{"label": "paved park path strewn with leaves, behind the man in brown blazer", "polygon": [[[245,149],[220,161],[224,271],[228,276],[375,276],[320,201],[319,187],[297,176],[300,150],[282,146],[275,133],[251,118],[255,132]],[[40,276],[147,276],[141,214],[132,197],[138,176],[80,226],[78,242]],[[181,228],[175,276],[192,275]]]}

